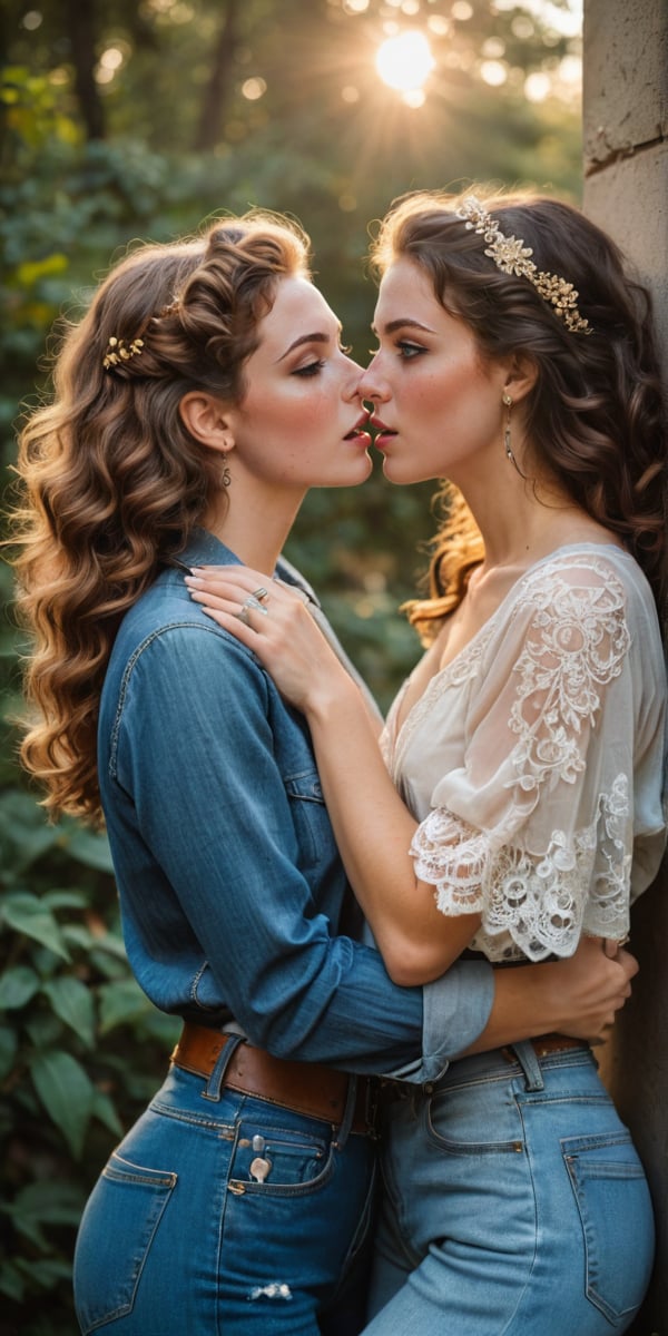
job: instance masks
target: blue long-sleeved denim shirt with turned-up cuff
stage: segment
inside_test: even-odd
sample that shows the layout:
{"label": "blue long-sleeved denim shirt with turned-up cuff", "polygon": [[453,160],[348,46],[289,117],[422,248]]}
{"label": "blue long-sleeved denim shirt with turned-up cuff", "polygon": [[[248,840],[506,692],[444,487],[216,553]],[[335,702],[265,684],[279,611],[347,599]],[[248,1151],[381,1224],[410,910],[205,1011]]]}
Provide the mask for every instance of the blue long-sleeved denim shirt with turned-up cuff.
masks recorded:
{"label": "blue long-sleeved denim shirt with turned-up cuff", "polygon": [[[204,530],[182,560],[236,562]],[[235,1023],[279,1057],[413,1081],[484,1029],[486,963],[401,989],[378,951],[337,935],[346,878],[306,721],[178,568],[120,625],[99,771],[127,954],[158,1007]]]}

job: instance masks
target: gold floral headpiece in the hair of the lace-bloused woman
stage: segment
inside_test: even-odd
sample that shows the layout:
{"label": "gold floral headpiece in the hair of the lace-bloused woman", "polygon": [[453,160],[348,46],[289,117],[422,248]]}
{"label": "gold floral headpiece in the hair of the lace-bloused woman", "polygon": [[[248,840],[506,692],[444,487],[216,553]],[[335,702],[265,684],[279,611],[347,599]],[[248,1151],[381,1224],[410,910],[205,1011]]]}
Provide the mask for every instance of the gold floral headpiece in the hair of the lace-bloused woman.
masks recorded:
{"label": "gold floral headpiece in the hair of the lace-bloused woman", "polygon": [[536,291],[545,302],[553,306],[556,315],[572,334],[592,334],[589,321],[577,309],[578,293],[572,283],[558,274],[546,274],[532,261],[533,251],[525,246],[520,236],[505,236],[496,218],[488,214],[485,206],[476,198],[468,195],[461,208],[457,210],[468,228],[478,232],[486,240],[485,255],[494,261],[497,269],[504,274],[517,274],[528,278]]}

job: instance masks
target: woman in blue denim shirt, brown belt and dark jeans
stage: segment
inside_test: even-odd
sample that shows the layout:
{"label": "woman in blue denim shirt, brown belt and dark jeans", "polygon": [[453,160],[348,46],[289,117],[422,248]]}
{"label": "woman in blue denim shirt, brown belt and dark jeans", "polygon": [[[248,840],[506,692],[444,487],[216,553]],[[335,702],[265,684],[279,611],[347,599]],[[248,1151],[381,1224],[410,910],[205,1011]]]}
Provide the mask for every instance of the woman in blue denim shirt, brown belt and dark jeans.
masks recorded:
{"label": "woman in blue denim shirt, brown belt and dark jeans", "polygon": [[104,818],[130,962],[184,1019],[84,1212],[86,1333],[359,1331],[367,1074],[420,1083],[469,1046],[599,1034],[636,969],[585,951],[402,989],[345,935],[306,721],[184,574],[257,566],[243,617],[289,587],[313,605],[281,549],[309,486],[369,473],[361,374],[299,228],[223,219],[111,271],[23,433],[24,763],[52,812]]}

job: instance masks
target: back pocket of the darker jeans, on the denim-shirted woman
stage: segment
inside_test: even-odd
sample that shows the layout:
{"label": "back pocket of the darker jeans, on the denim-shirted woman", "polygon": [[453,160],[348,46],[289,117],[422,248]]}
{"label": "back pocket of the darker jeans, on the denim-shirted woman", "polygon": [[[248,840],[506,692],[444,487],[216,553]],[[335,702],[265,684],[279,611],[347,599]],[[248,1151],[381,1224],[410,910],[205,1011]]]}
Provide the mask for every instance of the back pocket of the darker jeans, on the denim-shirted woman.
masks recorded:
{"label": "back pocket of the darker jeans, on the denim-shirted woman", "polygon": [[176,1174],[114,1153],[81,1217],[75,1249],[76,1316],[87,1336],[132,1311],[136,1287]]}

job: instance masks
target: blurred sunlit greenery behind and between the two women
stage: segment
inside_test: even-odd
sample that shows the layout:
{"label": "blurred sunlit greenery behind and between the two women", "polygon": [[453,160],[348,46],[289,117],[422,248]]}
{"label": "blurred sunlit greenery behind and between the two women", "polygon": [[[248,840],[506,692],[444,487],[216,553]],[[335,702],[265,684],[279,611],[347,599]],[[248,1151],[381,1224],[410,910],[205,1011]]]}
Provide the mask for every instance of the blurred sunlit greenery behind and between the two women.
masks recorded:
{"label": "blurred sunlit greenery behind and between the two women", "polygon": [[[415,187],[580,198],[577,0],[4,0],[0,436],[48,394],[49,333],[134,238],[253,204],[297,215],[365,361],[369,227]],[[307,498],[287,556],[383,707],[418,647],[397,605],[430,488],[378,468]],[[47,824],[16,764],[20,639],[0,565],[0,1332],[76,1323],[76,1221],[175,1037],[132,982],[103,836]]]}

